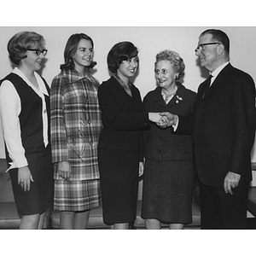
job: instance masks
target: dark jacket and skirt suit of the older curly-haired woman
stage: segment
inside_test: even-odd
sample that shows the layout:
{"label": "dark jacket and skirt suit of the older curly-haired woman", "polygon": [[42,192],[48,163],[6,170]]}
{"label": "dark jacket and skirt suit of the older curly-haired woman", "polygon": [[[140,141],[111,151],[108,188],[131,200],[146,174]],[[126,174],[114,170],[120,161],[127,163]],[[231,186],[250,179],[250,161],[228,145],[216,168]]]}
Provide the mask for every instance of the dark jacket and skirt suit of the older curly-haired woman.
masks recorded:
{"label": "dark jacket and skirt suit of the older curly-haired woman", "polygon": [[[188,115],[196,94],[182,84],[177,85],[177,93],[168,104],[161,96],[160,87],[149,92],[143,101],[145,110]],[[174,135],[172,129],[161,129],[152,123],[145,131],[142,218],[189,224],[194,184],[192,138]]]}

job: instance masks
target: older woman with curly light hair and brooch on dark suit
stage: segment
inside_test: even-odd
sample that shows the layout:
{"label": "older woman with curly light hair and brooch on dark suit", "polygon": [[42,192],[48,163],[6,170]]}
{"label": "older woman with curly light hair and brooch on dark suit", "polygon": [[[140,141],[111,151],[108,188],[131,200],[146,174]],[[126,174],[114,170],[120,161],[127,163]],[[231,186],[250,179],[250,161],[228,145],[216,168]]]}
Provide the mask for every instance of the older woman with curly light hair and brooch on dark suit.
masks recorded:
{"label": "older woman with curly light hair and brooch on dark suit", "polygon": [[[145,111],[182,115],[192,111],[195,92],[177,81],[184,68],[183,59],[174,51],[156,55],[154,73],[159,86],[145,96]],[[183,224],[192,222],[192,140],[189,135],[173,135],[170,129],[152,123],[145,131],[142,217],[147,229],[160,229],[161,222],[170,224],[170,229],[183,229]]]}

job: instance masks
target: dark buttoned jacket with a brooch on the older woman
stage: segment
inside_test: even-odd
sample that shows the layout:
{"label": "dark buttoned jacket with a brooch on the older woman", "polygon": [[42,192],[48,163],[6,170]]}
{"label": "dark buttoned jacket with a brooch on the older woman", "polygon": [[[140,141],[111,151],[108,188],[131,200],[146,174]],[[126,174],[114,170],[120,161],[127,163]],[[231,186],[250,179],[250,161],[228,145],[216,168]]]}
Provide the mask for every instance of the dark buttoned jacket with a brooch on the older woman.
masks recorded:
{"label": "dark buttoned jacket with a brooch on the older woman", "polygon": [[[161,88],[148,92],[143,100],[147,112],[170,112],[189,115],[195,102],[195,92],[186,89],[183,84],[177,84],[177,93],[166,105],[161,96]],[[161,129],[154,123],[144,133],[145,158],[151,160],[191,160],[192,137],[190,135],[172,134],[172,127]]]}

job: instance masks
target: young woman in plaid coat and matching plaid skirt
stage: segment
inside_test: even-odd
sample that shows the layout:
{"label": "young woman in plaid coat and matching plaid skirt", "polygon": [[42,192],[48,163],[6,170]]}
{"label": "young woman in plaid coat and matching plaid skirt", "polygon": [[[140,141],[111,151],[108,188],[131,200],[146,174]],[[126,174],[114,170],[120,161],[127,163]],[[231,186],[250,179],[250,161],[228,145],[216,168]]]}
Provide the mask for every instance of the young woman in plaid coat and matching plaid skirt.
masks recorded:
{"label": "young woman in plaid coat and matching plaid skirt", "polygon": [[90,209],[102,201],[97,161],[100,84],[91,75],[93,56],[93,40],[84,33],[73,34],[50,89],[54,206],[61,211],[61,229],[86,229]]}

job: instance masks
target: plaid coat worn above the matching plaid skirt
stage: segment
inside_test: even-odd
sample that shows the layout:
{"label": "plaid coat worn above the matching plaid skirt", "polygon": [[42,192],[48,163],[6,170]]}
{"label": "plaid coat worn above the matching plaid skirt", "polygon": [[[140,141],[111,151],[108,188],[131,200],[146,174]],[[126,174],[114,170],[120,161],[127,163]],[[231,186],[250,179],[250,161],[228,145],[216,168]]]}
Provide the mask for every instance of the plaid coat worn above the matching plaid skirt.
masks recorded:
{"label": "plaid coat worn above the matching plaid skirt", "polygon": [[[97,90],[90,73],[64,69],[50,89],[50,132],[53,163],[69,161],[70,181],[99,178],[98,138],[102,130]],[[55,179],[62,179],[55,171]]]}

